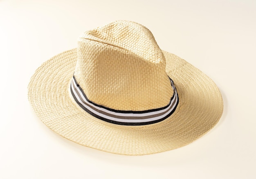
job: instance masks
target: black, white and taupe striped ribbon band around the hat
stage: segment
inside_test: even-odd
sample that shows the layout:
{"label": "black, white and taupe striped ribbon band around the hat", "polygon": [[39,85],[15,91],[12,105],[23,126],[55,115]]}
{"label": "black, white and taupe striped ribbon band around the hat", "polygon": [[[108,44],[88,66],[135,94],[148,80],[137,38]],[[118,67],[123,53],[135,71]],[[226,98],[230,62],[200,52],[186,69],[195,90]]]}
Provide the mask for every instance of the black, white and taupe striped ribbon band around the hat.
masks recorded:
{"label": "black, white and taupe striped ribbon band around the hat", "polygon": [[171,116],[179,103],[176,88],[171,78],[169,79],[174,91],[169,104],[153,110],[114,110],[102,105],[95,104],[87,98],[87,96],[83,92],[83,89],[76,82],[74,76],[70,85],[70,91],[76,103],[78,103],[78,105],[83,110],[98,119],[119,125],[148,125],[163,121],[164,119]]}

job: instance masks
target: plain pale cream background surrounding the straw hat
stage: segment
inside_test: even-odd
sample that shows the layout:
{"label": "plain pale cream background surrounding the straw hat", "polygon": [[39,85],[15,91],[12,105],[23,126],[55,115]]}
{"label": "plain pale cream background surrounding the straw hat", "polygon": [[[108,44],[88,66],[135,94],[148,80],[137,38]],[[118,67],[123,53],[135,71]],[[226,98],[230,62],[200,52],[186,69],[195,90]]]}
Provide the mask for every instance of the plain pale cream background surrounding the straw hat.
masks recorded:
{"label": "plain pale cream background surrounding the straw hat", "polygon": [[[255,0],[0,0],[0,178],[256,178]],[[86,30],[132,20],[159,47],[198,67],[222,92],[220,122],[176,150],[122,156],[58,136],[34,114],[37,67]]]}

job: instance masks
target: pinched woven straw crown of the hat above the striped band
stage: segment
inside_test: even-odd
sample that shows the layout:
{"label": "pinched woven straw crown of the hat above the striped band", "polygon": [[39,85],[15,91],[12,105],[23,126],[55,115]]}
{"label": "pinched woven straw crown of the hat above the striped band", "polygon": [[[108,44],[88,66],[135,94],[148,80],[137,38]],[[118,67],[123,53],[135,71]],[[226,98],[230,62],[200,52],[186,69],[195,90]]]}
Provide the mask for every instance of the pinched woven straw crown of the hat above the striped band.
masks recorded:
{"label": "pinched woven straw crown of the hat above the striped band", "polygon": [[173,95],[166,62],[152,33],[130,21],[86,31],[74,76],[87,98],[114,110],[164,107]]}

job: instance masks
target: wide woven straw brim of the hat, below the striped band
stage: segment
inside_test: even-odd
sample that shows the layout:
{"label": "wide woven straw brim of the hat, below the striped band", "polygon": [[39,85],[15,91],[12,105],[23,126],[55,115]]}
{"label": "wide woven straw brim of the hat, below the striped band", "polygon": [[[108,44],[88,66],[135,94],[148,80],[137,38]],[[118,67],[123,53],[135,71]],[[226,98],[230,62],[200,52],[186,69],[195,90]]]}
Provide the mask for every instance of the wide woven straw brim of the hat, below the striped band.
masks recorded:
{"label": "wide woven straw brim of the hat, below the striped band", "polygon": [[216,123],[223,101],[216,84],[182,58],[163,51],[166,73],[179,95],[175,112],[162,122],[144,126],[115,125],[91,116],[70,95],[76,49],[43,63],[28,85],[29,101],[38,117],[57,134],[91,148],[125,155],[173,150],[200,138]]}

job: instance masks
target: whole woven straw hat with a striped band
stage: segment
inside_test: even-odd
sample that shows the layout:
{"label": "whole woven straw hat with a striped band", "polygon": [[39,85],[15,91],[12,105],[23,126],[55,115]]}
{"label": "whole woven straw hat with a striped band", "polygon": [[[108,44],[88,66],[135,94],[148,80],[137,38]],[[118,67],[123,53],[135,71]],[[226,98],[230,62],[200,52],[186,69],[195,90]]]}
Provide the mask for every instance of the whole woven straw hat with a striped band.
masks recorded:
{"label": "whole woven straw hat with a striped band", "polygon": [[146,27],[121,20],[86,31],[76,49],[43,63],[28,98],[57,134],[126,155],[187,145],[213,128],[223,110],[208,76],[162,51]]}

